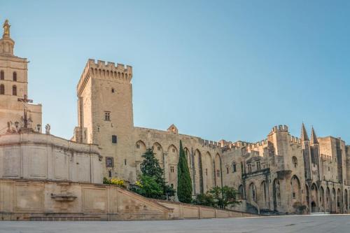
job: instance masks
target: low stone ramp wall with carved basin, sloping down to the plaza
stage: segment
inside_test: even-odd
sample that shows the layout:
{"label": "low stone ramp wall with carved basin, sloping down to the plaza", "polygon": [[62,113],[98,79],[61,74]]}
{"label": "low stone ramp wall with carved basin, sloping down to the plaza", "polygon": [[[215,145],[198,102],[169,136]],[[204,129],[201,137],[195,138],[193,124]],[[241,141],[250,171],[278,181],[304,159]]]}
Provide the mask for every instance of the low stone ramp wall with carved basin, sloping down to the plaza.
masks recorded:
{"label": "low stone ramp wall with carved basin, sloping down to the plaza", "polygon": [[0,179],[0,220],[169,220],[252,216],[147,199],[115,185]]}

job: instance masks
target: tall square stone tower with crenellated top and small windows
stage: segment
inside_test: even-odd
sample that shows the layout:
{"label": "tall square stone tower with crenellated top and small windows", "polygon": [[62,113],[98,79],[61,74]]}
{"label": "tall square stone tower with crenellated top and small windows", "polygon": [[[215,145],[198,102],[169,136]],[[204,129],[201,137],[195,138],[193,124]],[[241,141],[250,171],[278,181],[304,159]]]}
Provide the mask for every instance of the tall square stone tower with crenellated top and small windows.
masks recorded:
{"label": "tall square stone tower with crenellated top and small windows", "polygon": [[132,66],[89,59],[77,86],[78,127],[74,139],[98,144],[104,176],[135,181]]}

